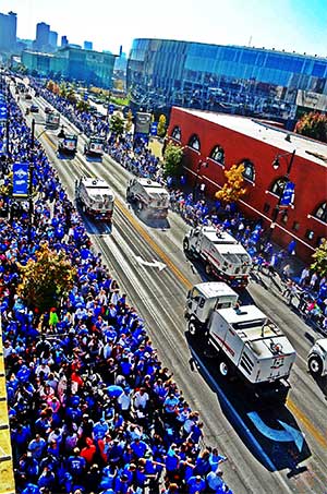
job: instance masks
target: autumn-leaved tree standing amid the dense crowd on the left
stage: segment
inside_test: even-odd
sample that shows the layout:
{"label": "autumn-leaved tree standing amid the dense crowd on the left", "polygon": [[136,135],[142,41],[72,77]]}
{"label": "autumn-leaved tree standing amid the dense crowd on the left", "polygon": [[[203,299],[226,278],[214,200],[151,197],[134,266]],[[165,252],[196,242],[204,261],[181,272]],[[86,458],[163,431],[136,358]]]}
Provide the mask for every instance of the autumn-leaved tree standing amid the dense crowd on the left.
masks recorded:
{"label": "autumn-leaved tree standing amid the dense crowd on the left", "polygon": [[68,294],[73,287],[76,269],[64,251],[52,251],[48,242],[40,245],[35,256],[25,266],[19,264],[22,282],[17,287],[17,294],[27,306],[45,312],[58,306],[60,299]]}

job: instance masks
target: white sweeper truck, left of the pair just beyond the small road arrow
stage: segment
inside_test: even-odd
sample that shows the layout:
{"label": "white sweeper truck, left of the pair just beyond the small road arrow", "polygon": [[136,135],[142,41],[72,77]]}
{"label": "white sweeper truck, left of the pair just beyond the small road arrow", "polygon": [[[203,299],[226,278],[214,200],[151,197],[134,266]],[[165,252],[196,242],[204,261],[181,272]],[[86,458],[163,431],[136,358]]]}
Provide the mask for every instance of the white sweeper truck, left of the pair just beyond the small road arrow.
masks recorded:
{"label": "white sweeper truck, left of the pair just beyond the small road arrow", "polygon": [[111,220],[113,212],[113,192],[104,179],[82,177],[75,183],[76,202],[83,213],[95,219]]}

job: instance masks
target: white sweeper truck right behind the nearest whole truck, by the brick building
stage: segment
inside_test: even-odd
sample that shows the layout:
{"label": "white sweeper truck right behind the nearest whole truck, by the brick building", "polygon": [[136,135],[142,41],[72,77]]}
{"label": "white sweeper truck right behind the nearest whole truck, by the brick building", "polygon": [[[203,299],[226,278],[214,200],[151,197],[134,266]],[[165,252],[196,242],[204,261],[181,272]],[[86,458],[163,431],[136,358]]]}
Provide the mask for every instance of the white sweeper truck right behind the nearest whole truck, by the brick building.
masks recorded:
{"label": "white sweeper truck right behind the nearest whole truck, by the brick building", "polygon": [[214,226],[192,228],[184,237],[183,249],[190,257],[204,261],[207,275],[215,275],[231,287],[244,288],[249,284],[251,255],[226,231]]}

